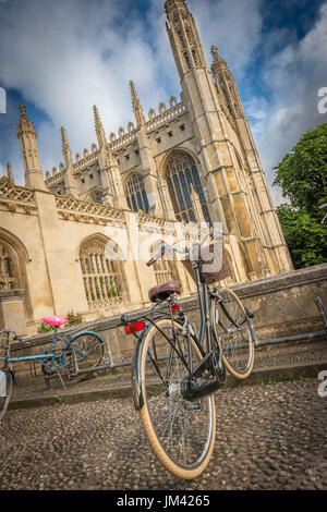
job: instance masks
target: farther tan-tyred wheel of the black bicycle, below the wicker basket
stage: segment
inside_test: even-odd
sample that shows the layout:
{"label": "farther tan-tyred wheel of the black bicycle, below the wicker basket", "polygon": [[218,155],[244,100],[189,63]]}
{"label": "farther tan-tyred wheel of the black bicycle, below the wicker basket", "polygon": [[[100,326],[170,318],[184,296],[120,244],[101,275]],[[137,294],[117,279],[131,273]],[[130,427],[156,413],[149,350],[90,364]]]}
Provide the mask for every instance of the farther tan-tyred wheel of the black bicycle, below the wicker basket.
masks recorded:
{"label": "farther tan-tyred wheel of the black bicycle, below the wicker basket", "polygon": [[[218,291],[221,300],[217,321],[217,302],[211,300],[211,318],[216,338],[220,337],[222,359],[228,371],[237,379],[250,376],[254,365],[254,330],[240,298],[229,288]],[[217,342],[217,341],[216,341]]]}

